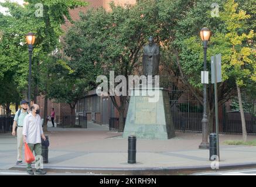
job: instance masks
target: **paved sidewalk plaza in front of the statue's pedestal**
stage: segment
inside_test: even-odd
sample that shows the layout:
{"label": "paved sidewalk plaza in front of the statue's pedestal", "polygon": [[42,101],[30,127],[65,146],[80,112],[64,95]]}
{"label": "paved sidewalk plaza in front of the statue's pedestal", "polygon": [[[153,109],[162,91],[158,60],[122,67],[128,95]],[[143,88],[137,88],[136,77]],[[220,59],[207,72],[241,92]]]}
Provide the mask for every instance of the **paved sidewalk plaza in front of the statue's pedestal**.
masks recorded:
{"label": "paved sidewalk plaza in front of the statue's pedestal", "polygon": [[[137,140],[136,164],[127,163],[128,141],[107,126],[88,124],[88,129],[49,127],[49,164],[56,172],[105,174],[169,174],[170,171],[210,169],[209,150],[199,150],[200,133],[176,132],[170,140]],[[225,140],[241,140],[239,134],[220,134],[220,168],[256,166],[256,146],[227,146]],[[248,140],[256,136],[248,136]],[[16,167],[16,138],[0,134],[0,169]],[[127,171],[127,172],[125,172]]]}

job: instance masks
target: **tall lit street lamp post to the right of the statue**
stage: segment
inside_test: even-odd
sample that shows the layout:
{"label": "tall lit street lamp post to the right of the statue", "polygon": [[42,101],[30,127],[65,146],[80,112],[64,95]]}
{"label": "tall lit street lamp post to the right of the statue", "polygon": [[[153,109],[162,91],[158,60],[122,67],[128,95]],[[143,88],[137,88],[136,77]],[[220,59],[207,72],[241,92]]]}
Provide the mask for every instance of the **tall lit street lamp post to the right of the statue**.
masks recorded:
{"label": "tall lit street lamp post to the right of the statue", "polygon": [[[207,66],[206,66],[206,52],[207,52],[207,43],[210,39],[210,30],[207,29],[206,27],[203,27],[203,29],[200,30],[200,37],[203,41],[203,50],[204,50],[204,64],[203,64],[203,71],[207,71]],[[203,76],[205,73],[203,74]],[[203,134],[203,141],[199,145],[200,149],[209,149],[209,143],[208,143],[208,119],[207,119],[207,112],[206,112],[206,98],[207,98],[207,93],[206,93],[206,82],[204,82],[204,77],[203,77],[203,119],[202,119],[202,134]]]}

